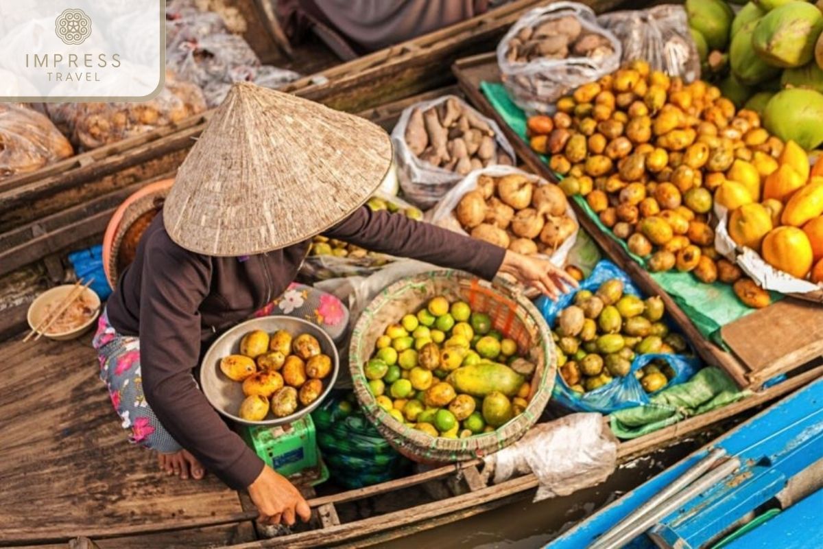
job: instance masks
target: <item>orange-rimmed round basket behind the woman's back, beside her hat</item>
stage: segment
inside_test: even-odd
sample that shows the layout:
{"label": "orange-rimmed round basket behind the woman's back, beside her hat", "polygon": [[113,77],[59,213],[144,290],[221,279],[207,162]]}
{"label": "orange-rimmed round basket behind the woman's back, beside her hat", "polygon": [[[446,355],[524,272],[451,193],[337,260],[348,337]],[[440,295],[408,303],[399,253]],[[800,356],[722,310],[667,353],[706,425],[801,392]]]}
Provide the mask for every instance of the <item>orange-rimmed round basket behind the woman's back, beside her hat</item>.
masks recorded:
{"label": "orange-rimmed round basket behind the woman's back, beside her hat", "polygon": [[114,288],[123,269],[133,262],[137,244],[163,207],[174,179],[162,179],[126,198],[114,211],[103,236],[103,270]]}

